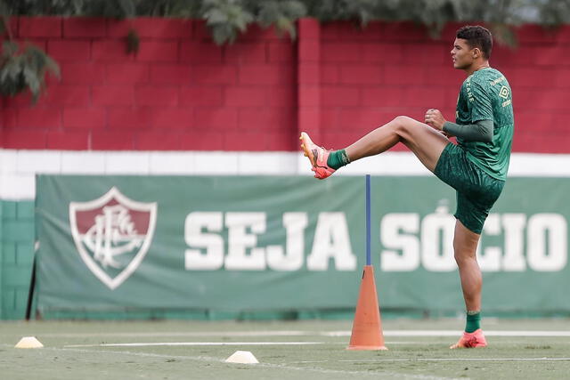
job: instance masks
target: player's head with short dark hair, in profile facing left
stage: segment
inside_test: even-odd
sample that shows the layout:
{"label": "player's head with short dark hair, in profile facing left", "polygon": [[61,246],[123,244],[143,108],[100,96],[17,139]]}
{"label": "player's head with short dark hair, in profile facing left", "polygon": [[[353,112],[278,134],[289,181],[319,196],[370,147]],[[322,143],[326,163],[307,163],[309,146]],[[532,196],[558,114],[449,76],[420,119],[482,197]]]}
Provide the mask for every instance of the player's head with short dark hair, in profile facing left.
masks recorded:
{"label": "player's head with short dark hair, in profile facing left", "polygon": [[486,28],[465,26],[455,34],[452,58],[455,69],[468,69],[477,62],[488,61],[493,50],[493,36]]}

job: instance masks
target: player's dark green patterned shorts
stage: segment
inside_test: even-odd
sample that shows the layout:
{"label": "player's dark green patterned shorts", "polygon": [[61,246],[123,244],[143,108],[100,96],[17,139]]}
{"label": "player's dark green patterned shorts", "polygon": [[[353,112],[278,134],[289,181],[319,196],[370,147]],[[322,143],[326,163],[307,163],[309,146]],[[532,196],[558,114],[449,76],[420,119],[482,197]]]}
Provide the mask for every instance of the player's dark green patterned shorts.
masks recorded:
{"label": "player's dark green patterned shorts", "polygon": [[505,182],[486,174],[467,158],[465,150],[451,142],[437,161],[434,174],[457,190],[457,211],[453,216],[480,234]]}

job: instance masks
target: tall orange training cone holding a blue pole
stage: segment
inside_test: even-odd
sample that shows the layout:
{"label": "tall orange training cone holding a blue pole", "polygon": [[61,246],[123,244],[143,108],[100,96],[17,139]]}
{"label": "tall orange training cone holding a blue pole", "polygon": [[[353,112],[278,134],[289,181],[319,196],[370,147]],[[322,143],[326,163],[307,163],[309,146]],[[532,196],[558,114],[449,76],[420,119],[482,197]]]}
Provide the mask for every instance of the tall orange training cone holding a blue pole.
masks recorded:
{"label": "tall orange training cone holding a blue pole", "polygon": [[346,350],[387,350],[382,334],[372,265],[364,265],[360,294],[354,312],[353,333]]}

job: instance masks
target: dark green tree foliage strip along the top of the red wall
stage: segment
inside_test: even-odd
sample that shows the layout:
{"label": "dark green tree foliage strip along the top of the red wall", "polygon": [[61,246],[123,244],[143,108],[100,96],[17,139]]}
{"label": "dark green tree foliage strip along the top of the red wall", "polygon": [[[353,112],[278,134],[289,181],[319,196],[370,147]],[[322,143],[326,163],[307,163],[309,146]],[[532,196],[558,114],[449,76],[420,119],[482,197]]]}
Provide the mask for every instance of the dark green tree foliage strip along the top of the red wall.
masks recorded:
{"label": "dark green tree foliage strip along the top of the red wall", "polygon": [[556,27],[570,23],[570,0],[0,0],[10,14],[184,17],[206,20],[216,43],[232,43],[249,24],[274,26],[296,36],[295,21],[411,20],[438,36],[450,21],[485,22],[497,40],[514,44],[512,26],[524,22]]}

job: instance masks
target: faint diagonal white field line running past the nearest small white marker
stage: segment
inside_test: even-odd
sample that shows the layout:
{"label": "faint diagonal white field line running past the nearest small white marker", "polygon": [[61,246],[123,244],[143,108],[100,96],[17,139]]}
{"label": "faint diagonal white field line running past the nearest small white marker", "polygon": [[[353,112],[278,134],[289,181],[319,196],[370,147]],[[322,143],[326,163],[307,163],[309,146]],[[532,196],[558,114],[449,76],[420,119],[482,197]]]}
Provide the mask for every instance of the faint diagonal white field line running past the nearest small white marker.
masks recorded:
{"label": "faint diagonal white field line running past the nearest small white marker", "polygon": [[[12,347],[9,344],[0,344],[2,347]],[[181,356],[181,355],[164,355],[158,353],[146,353],[146,352],[128,352],[128,351],[99,351],[99,350],[85,350],[80,348],[56,348],[56,347],[44,347],[41,350],[53,351],[53,352],[77,352],[77,353],[87,353],[90,358],[98,354],[114,354],[114,355],[126,355],[141,358],[158,358],[158,359],[175,359],[175,360],[194,360],[194,361],[206,361],[206,362],[217,362],[224,363],[227,366],[235,366],[233,363],[225,363],[224,359],[214,358],[210,356]],[[244,366],[240,364],[240,366]],[[454,377],[441,377],[441,376],[425,376],[425,375],[411,375],[411,374],[401,374],[398,372],[390,371],[346,371],[341,369],[326,369],[326,368],[303,368],[291,366],[290,364],[277,364],[277,363],[258,363],[258,364],[247,364],[246,366],[255,366],[255,368],[269,368],[269,369],[282,369],[285,371],[302,371],[302,372],[314,372],[319,374],[330,374],[330,375],[342,375],[342,376],[373,376],[374,378],[379,378],[379,376],[389,376],[390,378],[402,378],[402,379],[423,379],[423,380],[435,380],[435,379],[455,379]]]}

